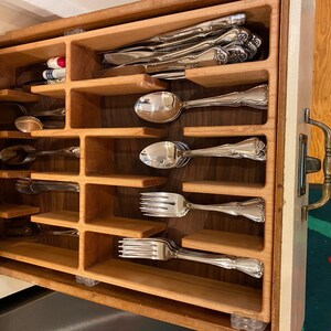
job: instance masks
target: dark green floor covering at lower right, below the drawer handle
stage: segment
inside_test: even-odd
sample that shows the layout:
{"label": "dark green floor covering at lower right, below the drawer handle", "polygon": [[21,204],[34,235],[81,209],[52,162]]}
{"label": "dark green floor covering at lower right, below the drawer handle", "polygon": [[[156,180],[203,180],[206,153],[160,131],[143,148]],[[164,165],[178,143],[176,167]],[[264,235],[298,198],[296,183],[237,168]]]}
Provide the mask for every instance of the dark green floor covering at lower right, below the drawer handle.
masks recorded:
{"label": "dark green floor covering at lower right, below the drawer handle", "polygon": [[[309,200],[321,196],[310,190]],[[309,213],[305,331],[331,330],[331,201]]]}

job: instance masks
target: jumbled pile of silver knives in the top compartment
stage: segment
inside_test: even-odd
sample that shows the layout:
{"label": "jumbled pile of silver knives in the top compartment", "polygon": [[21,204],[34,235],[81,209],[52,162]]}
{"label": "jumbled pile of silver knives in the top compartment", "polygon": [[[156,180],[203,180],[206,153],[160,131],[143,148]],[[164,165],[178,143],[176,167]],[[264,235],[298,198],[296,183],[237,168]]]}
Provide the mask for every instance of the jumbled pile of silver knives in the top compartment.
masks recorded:
{"label": "jumbled pile of silver knives in the top compartment", "polygon": [[243,25],[245,13],[232,14],[175,30],[104,54],[104,64],[116,65],[114,75],[142,70],[167,79],[184,77],[191,67],[250,61],[263,40]]}

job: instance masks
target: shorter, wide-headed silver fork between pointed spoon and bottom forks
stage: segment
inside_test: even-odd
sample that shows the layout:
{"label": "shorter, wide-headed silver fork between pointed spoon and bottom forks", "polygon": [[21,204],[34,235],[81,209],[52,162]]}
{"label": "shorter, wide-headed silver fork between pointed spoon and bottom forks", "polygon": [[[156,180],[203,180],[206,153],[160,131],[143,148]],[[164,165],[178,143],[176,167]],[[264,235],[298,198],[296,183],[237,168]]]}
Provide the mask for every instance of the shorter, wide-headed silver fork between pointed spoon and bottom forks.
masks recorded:
{"label": "shorter, wide-headed silver fork between pointed spoon and bottom forks", "polygon": [[152,217],[183,217],[190,210],[201,210],[244,216],[258,223],[265,222],[265,203],[259,197],[204,205],[191,203],[178,193],[146,192],[140,196],[140,210],[143,215]]}

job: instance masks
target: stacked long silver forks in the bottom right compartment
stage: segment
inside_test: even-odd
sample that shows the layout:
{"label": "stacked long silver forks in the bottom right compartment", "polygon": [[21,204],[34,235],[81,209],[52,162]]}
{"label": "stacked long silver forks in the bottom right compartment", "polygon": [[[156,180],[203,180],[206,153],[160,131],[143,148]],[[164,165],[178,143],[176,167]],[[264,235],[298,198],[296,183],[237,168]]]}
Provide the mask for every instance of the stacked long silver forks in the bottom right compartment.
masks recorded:
{"label": "stacked long silver forks in the bottom right compartment", "polygon": [[255,278],[263,276],[263,264],[255,258],[183,249],[168,238],[124,238],[118,245],[119,257],[168,260],[173,258],[199,261],[225,269],[236,269]]}

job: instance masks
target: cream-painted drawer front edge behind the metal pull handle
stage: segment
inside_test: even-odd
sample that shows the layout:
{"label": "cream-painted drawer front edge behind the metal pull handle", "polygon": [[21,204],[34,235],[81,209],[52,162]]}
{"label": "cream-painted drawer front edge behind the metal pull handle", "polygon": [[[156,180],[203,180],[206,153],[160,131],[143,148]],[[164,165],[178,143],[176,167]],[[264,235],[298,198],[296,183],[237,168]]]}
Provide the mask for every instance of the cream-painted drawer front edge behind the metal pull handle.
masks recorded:
{"label": "cream-painted drawer front edge behind the metal pull handle", "polygon": [[299,331],[305,319],[307,221],[306,195],[298,196],[299,135],[308,135],[303,109],[311,106],[314,1],[292,0],[289,8],[285,191],[282,212],[279,330]]}

